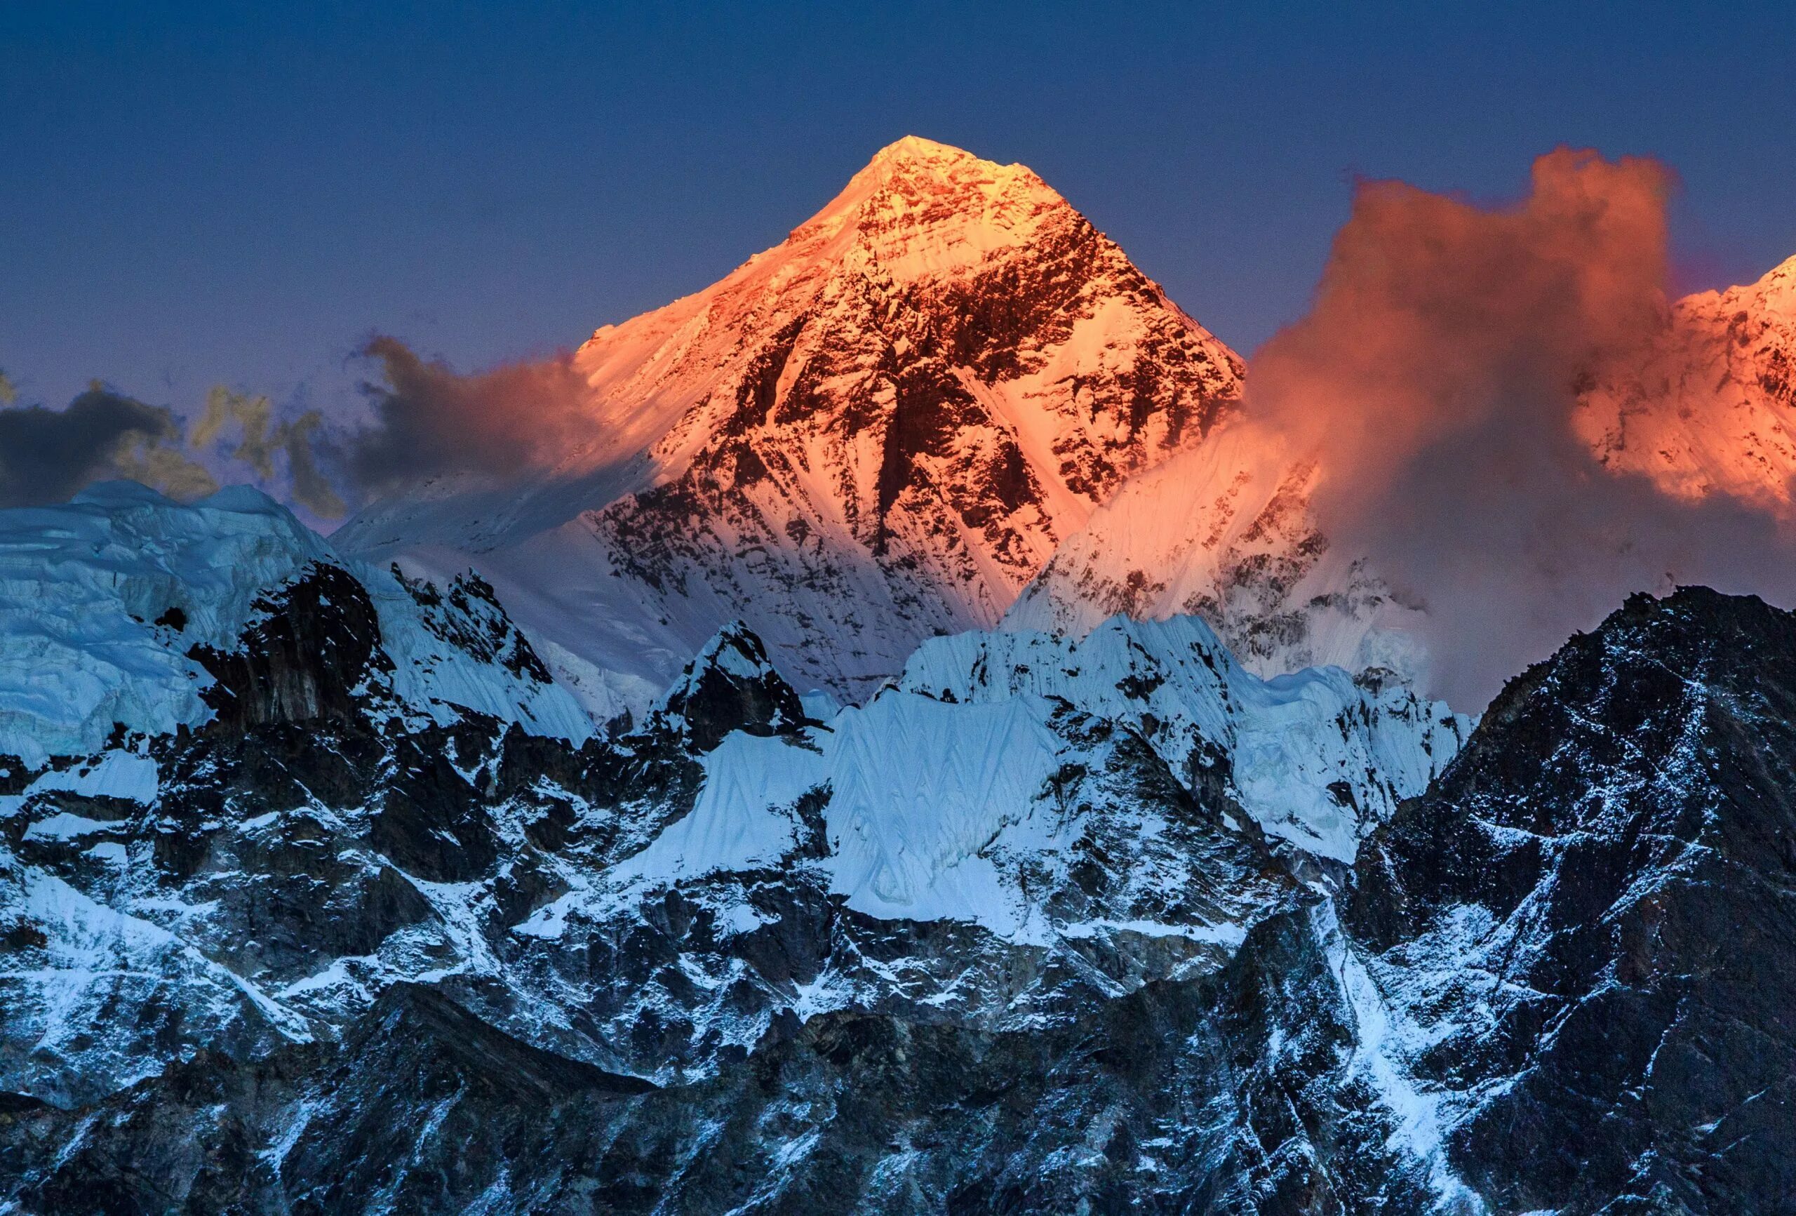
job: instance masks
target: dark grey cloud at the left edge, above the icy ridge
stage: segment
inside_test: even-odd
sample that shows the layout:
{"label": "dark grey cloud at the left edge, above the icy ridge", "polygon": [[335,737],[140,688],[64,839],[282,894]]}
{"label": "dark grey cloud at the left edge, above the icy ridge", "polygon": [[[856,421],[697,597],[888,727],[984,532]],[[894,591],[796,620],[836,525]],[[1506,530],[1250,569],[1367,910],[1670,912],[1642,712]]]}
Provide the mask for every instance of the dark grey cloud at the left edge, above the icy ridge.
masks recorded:
{"label": "dark grey cloud at the left edge, above the icy ridge", "polygon": [[66,410],[0,410],[0,507],[61,503],[106,478],[131,478],[174,498],[217,489],[187,456],[171,411],[99,384]]}

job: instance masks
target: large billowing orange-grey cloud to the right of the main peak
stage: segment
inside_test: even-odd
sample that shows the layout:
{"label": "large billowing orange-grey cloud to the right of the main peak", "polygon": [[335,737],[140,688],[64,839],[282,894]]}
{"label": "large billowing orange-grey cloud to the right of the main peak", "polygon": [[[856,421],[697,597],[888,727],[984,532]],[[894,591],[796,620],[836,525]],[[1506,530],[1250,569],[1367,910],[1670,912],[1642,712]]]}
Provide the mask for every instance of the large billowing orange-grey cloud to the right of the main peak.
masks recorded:
{"label": "large billowing orange-grey cloud to the right of the main peak", "polygon": [[1606,471],[1572,427],[1593,377],[1670,325],[1670,187],[1652,160],[1572,149],[1510,208],[1363,183],[1313,311],[1252,363],[1248,410],[1320,453],[1324,530],[1426,602],[1457,704],[1627,591],[1796,584],[1771,517]]}

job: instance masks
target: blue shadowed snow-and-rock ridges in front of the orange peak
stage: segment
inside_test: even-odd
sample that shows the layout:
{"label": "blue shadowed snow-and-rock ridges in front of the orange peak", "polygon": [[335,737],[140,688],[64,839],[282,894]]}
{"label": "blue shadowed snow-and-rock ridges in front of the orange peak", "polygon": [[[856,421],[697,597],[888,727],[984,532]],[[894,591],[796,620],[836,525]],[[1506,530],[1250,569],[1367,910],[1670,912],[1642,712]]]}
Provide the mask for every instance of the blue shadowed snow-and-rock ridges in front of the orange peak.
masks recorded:
{"label": "blue shadowed snow-and-rock ridges in front of the orange peak", "polygon": [[487,584],[224,514],[284,573],[115,580],[201,711],[0,762],[16,1211],[1791,1203],[1785,612],[1636,598],[1476,729],[1194,618],[835,709],[736,623],[580,733]]}

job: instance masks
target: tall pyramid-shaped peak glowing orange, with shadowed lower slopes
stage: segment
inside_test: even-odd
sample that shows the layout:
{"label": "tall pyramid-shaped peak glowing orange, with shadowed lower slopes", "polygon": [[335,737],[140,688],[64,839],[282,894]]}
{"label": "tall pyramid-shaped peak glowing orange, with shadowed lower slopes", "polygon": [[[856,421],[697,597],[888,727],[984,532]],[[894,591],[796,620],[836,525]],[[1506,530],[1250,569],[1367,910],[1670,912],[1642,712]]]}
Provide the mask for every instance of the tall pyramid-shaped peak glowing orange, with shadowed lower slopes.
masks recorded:
{"label": "tall pyramid-shaped peak glowing orange, with shadowed lower slopes", "polygon": [[799,686],[855,697],[993,625],[1241,377],[1034,172],[921,138],[575,365],[594,449],[506,503],[377,505],[338,542],[490,550],[514,611],[603,670],[665,683],[740,616]]}

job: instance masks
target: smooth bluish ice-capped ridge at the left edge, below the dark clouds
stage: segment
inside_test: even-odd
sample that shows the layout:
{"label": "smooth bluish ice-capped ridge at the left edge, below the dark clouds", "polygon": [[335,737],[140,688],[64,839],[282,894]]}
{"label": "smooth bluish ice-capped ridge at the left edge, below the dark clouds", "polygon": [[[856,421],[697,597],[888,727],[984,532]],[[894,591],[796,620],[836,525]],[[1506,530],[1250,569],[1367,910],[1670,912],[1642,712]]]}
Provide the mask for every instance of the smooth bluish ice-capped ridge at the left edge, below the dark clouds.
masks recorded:
{"label": "smooth bluish ice-capped ridge at the left edge, below the dark clouds", "polygon": [[[320,564],[368,591],[402,706],[433,720],[460,706],[537,733],[591,733],[546,674],[512,670],[510,656],[472,643],[499,625],[496,605],[424,604],[250,487],[181,505],[115,481],[63,507],[0,512],[0,754],[40,767],[101,751],[119,724],[169,735],[208,722],[214,681],[190,652],[235,650],[264,595]],[[456,639],[451,618],[472,632]]]}

